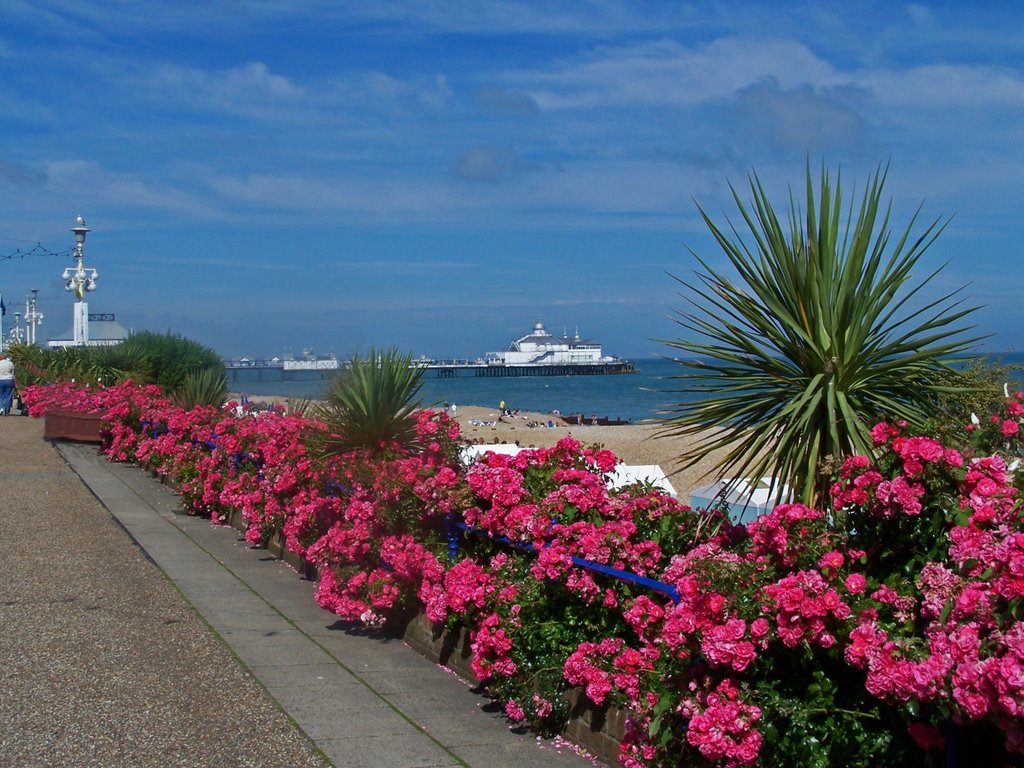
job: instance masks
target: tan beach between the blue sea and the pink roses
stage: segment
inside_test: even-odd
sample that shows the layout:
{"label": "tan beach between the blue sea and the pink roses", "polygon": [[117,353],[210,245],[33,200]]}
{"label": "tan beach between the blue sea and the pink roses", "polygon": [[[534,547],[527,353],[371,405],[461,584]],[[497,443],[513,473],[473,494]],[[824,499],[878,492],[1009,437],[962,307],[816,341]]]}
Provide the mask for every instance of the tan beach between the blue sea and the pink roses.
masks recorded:
{"label": "tan beach between the blue sea and the pink roses", "polygon": [[[228,397],[237,400],[239,393],[230,392]],[[249,395],[249,400],[287,403],[289,398]],[[456,409],[456,421],[462,436],[477,444],[504,442],[518,443],[525,449],[551,447],[563,437],[570,436],[583,445],[600,445],[611,451],[625,464],[656,464],[665,471],[683,503],[689,501],[691,488],[720,479],[715,466],[724,451],[711,453],[693,466],[682,468],[679,456],[695,438],[663,435],[665,427],[662,422],[594,426],[570,424],[565,417],[537,411],[521,411],[516,417],[500,417],[496,408],[461,404]],[[548,426],[549,422],[553,426]]]}

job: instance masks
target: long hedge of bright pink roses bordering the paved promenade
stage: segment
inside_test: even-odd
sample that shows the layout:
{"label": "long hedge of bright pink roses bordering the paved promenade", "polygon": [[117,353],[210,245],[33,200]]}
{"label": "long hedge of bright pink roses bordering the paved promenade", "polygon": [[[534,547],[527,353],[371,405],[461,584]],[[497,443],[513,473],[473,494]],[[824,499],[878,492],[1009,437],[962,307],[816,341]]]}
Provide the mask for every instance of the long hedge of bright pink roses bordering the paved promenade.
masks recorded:
{"label": "long hedge of bright pink roses bordering the paved promenade", "polygon": [[570,689],[624,708],[623,765],[1024,755],[1021,393],[959,445],[879,424],[827,509],[746,526],[609,489],[614,456],[571,438],[464,466],[458,424],[430,411],[420,449],[326,457],[326,426],[280,411],[183,412],[131,383],[24,397],[102,413],[112,461],[169,477],[191,514],[241,519],[254,545],[280,537],[341,618],[464,628],[514,723],[556,732]]}

